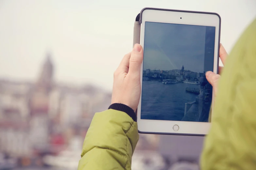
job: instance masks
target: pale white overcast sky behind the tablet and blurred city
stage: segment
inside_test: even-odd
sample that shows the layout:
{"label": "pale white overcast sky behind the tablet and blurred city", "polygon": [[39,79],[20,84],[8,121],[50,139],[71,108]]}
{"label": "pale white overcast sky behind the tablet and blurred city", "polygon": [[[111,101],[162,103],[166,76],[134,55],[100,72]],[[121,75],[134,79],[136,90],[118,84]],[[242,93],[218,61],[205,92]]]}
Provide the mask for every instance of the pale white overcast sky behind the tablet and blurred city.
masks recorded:
{"label": "pale white overcast sky behind the tablet and blurred city", "polygon": [[256,16],[254,0],[0,0],[0,78],[34,80],[51,51],[57,81],[111,90],[144,7],[218,13],[228,52]]}

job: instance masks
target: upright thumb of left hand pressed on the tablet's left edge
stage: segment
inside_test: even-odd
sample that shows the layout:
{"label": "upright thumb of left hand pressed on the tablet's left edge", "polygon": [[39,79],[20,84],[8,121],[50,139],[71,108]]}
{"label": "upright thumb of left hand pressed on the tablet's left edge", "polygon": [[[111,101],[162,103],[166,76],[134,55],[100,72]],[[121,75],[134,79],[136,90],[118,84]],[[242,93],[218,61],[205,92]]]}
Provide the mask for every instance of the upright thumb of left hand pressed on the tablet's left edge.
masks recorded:
{"label": "upright thumb of left hand pressed on the tablet's left edge", "polygon": [[142,60],[143,60],[142,47],[139,44],[135,44],[131,52],[128,74],[136,75],[136,76],[140,75]]}

